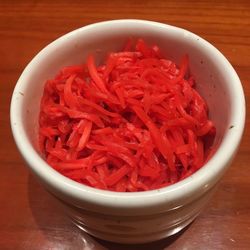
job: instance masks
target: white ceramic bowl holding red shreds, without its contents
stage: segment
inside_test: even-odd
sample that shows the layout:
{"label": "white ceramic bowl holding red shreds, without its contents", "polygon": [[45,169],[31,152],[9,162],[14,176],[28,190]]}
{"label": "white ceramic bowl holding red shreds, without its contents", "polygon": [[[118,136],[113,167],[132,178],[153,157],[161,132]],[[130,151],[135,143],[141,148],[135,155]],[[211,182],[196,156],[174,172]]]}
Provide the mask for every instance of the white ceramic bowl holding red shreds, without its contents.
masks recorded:
{"label": "white ceramic bowl holding red shreds, without its contents", "polygon": [[[191,73],[217,128],[218,149],[204,167],[172,186],[135,193],[97,190],[60,175],[39,155],[40,99],[45,81],[53,78],[61,67],[84,62],[90,52],[100,61],[106,52],[121,49],[131,36],[156,43],[176,62],[183,54],[189,55]],[[158,240],[194,220],[232,161],[244,123],[241,82],[227,59],[210,43],[187,30],[143,20],[96,23],[60,37],[28,64],[11,102],[13,135],[31,171],[64,204],[78,227],[96,237],[122,243]]]}

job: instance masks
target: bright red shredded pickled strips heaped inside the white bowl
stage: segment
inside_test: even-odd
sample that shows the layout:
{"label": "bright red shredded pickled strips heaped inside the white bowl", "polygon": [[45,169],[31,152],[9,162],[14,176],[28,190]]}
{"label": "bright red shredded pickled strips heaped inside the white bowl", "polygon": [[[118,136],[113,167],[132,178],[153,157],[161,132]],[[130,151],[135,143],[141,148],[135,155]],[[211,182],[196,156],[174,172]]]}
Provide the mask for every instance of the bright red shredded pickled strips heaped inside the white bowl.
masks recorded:
{"label": "bright red shredded pickled strips heaped inside the white bowl", "polygon": [[96,66],[61,69],[46,82],[39,143],[64,176],[99,189],[134,192],[176,183],[204,165],[214,138],[188,56],[177,66],[143,39]]}

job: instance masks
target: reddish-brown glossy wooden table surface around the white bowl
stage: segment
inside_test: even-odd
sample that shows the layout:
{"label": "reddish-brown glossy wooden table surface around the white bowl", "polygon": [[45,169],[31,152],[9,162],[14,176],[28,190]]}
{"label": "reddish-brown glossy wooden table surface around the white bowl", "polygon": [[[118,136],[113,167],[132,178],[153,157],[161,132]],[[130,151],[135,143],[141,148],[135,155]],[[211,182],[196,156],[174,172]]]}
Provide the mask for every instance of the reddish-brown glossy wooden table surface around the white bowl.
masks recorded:
{"label": "reddish-brown glossy wooden table surface around the white bowl", "polygon": [[[51,3],[50,3],[51,2]],[[250,249],[250,117],[231,168],[213,199],[184,232],[139,246],[81,234],[29,173],[9,123],[13,88],[45,45],[81,26],[138,18],[188,29],[234,66],[250,103],[250,1],[0,0],[0,249]]]}

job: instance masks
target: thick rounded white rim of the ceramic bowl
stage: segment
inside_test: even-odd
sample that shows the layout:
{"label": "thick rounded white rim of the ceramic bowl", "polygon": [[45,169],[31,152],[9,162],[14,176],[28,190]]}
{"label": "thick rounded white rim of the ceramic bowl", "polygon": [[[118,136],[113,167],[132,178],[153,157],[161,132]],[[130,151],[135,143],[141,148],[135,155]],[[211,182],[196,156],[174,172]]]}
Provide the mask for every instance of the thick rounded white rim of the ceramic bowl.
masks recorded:
{"label": "thick rounded white rim of the ceramic bowl", "polygon": [[[230,74],[230,84],[232,85],[231,94],[234,97],[230,99],[232,101],[231,120],[234,122],[237,121],[237,124],[234,123],[234,128],[225,133],[220,147],[214,156],[201,169],[191,176],[164,188],[143,192],[125,193],[99,190],[77,183],[64,177],[51,168],[35,151],[24,130],[21,117],[23,98],[17,97],[20,97],[22,86],[25,84],[26,79],[28,79],[29,73],[34,67],[36,67],[37,62],[55,47],[63,44],[65,40],[77,35],[77,33],[87,33],[89,30],[95,30],[96,28],[105,30],[114,25],[117,27],[124,27],[124,25],[138,25],[142,28],[155,27],[164,29],[170,33],[176,31],[184,32],[186,35],[194,37],[195,39],[199,38],[198,42],[200,46],[205,46],[210,50],[215,59],[220,61],[224,70]],[[226,169],[226,166],[230,163],[233,155],[236,153],[244,130],[245,112],[243,88],[237,73],[224,55],[209,42],[190,31],[176,26],[146,20],[120,19],[83,26],[59,37],[41,50],[26,66],[17,81],[11,99],[10,120],[12,133],[21,155],[32,171],[49,186],[55,188],[62,194],[72,197],[73,199],[87,201],[99,206],[140,208],[183,200],[186,199],[188,195],[190,196],[191,194],[194,194],[197,189],[202,189],[204,192],[210,189],[215,182],[218,181],[220,173]]]}

